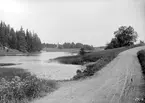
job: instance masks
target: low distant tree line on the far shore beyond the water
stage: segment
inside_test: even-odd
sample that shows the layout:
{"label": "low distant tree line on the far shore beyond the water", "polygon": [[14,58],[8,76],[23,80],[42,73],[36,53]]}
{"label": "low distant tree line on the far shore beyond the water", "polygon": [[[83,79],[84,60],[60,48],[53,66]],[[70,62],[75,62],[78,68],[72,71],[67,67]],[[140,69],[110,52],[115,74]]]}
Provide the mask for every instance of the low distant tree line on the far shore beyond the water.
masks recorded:
{"label": "low distant tree line on the far shore beyond the water", "polygon": [[69,43],[65,42],[63,44],[49,44],[43,43],[43,48],[59,48],[59,49],[72,49],[72,48],[83,48],[85,50],[93,50],[94,47],[92,45],[82,44],[82,43]]}

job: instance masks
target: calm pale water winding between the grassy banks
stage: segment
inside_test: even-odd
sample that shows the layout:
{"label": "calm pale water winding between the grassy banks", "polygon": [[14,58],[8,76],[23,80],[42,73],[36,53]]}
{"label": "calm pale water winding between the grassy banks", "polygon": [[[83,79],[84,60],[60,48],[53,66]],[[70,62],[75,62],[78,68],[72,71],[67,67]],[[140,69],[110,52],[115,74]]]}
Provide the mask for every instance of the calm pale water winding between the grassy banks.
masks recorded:
{"label": "calm pale water winding between the grassy banks", "polygon": [[21,63],[19,65],[9,66],[27,69],[40,78],[63,80],[70,79],[76,74],[76,70],[81,66],[65,65],[57,62],[49,63],[49,59],[59,56],[71,55],[64,52],[42,52],[35,56],[2,56],[0,63]]}

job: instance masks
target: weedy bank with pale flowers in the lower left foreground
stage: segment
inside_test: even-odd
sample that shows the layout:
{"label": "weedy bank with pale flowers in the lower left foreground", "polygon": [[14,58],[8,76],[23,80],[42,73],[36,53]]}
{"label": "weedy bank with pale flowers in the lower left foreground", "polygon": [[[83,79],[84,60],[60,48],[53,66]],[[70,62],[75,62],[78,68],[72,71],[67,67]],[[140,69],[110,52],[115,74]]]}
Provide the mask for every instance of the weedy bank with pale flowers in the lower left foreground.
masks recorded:
{"label": "weedy bank with pale flowers in the lower left foreground", "polygon": [[0,103],[28,103],[55,89],[54,81],[39,79],[23,69],[0,68]]}

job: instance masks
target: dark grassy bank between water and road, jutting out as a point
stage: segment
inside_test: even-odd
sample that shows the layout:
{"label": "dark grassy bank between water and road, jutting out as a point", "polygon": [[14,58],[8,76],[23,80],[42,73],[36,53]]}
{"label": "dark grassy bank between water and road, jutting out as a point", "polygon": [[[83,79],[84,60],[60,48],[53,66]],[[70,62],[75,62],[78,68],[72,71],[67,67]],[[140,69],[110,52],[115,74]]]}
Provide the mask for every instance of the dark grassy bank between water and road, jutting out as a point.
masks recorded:
{"label": "dark grassy bank between water and road, jutting out as a point", "polygon": [[95,72],[99,71],[105,65],[107,65],[110,61],[112,61],[120,52],[125,50],[142,46],[140,44],[130,46],[130,47],[121,47],[115,49],[102,50],[98,52],[87,53],[84,56],[76,55],[76,56],[64,56],[55,58],[56,61],[64,64],[75,64],[75,65],[84,65],[90,62],[90,65],[86,65],[84,70],[77,70],[76,75],[73,77],[74,80],[80,78],[86,78],[88,76],[94,75]]}

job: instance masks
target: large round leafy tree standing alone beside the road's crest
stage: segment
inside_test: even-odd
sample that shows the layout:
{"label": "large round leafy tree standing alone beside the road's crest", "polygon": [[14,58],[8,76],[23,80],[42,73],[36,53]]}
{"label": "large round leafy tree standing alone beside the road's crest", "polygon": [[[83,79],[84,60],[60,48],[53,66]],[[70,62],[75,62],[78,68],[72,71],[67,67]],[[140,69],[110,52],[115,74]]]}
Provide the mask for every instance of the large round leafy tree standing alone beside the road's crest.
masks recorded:
{"label": "large round leafy tree standing alone beside the road's crest", "polygon": [[137,32],[131,26],[121,26],[114,32],[114,35],[115,37],[112,38],[111,42],[107,44],[105,49],[134,45],[138,37]]}

